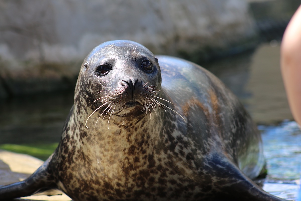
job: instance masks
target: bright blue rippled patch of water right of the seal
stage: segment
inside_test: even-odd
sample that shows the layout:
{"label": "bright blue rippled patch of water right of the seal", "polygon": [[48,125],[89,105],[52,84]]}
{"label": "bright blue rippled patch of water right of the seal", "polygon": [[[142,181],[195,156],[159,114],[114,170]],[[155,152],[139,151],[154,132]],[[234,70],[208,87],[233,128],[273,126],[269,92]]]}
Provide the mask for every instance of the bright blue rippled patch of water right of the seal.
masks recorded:
{"label": "bright blue rippled patch of water right of the seal", "polygon": [[298,124],[284,121],[277,126],[258,127],[262,131],[268,168],[264,190],[285,199],[296,199],[296,183],[299,183],[301,172],[301,131]]}

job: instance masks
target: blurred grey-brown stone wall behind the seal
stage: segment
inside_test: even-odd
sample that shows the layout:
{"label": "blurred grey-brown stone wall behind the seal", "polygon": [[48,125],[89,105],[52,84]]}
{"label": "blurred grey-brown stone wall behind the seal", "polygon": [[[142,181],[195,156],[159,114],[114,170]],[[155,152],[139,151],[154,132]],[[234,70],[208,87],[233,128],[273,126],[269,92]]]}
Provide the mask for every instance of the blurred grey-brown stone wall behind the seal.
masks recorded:
{"label": "blurred grey-brown stone wall behind the seal", "polygon": [[85,55],[108,40],[197,60],[256,35],[246,0],[3,0],[0,16],[2,97],[73,88]]}

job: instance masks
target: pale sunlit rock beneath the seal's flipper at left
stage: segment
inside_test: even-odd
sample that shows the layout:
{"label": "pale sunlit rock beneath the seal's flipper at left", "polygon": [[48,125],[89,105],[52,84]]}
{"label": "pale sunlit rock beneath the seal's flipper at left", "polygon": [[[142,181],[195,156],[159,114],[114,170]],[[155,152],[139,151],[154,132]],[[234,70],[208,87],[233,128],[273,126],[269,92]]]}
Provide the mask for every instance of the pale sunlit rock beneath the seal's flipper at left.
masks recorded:
{"label": "pale sunlit rock beneath the seal's flipper at left", "polygon": [[[26,154],[18,154],[8,151],[0,150],[0,186],[7,185],[14,182],[22,181],[29,177],[43,161],[33,156]],[[55,200],[55,201],[69,201],[71,200],[66,194],[61,191],[56,191],[62,195],[45,196],[33,195],[25,197],[26,200]],[[17,199],[23,200],[23,199]]]}

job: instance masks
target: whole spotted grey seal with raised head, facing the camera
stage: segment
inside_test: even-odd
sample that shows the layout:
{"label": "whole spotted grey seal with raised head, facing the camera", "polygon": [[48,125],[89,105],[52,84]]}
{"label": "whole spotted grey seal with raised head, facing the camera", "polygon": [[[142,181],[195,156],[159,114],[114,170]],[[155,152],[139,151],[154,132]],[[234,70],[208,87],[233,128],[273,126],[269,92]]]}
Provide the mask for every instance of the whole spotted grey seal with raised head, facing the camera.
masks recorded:
{"label": "whole spotted grey seal with raised head, facing the camera", "polygon": [[109,41],[85,58],[55,152],[0,200],[282,200],[252,180],[261,136],[224,84],[189,61]]}

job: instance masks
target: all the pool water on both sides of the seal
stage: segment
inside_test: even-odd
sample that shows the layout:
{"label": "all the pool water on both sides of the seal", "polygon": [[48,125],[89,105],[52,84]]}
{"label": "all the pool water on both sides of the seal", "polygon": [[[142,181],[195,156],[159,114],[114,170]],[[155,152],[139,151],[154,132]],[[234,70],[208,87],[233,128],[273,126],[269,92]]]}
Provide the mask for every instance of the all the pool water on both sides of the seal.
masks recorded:
{"label": "all the pool water on both sides of the seal", "polygon": [[[264,189],[285,199],[296,199],[296,182],[301,172],[301,132],[292,121],[287,103],[279,52],[279,43],[273,41],[252,52],[202,65],[238,96],[259,124],[268,168]],[[0,102],[0,146],[55,145],[72,104],[72,92]]]}

